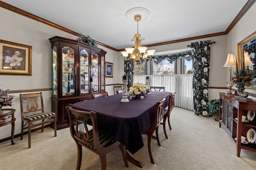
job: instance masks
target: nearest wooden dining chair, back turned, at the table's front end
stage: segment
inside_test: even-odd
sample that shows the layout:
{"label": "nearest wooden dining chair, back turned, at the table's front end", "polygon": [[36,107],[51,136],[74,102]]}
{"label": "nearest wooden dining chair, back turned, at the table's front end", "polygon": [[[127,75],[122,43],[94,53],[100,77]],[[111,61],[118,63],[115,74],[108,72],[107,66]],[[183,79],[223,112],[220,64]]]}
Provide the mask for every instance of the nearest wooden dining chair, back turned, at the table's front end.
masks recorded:
{"label": "nearest wooden dining chair, back turned, at the table's front end", "polygon": [[[106,170],[106,154],[120,147],[114,135],[98,128],[97,115],[94,111],[80,111],[66,106],[68,111],[70,134],[76,142],[78,156],[76,170],[80,170],[82,162],[82,146],[100,156],[101,169]],[[75,123],[74,123],[75,122]],[[128,167],[126,151],[122,150],[124,164]]]}

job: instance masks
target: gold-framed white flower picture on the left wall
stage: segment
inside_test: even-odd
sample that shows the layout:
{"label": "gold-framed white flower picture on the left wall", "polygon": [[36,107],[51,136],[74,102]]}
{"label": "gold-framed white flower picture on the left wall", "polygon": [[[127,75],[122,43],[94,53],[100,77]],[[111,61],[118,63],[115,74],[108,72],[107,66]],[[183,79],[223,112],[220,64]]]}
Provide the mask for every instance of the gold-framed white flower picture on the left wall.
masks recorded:
{"label": "gold-framed white flower picture on the left wall", "polygon": [[32,46],[0,39],[0,74],[32,75]]}

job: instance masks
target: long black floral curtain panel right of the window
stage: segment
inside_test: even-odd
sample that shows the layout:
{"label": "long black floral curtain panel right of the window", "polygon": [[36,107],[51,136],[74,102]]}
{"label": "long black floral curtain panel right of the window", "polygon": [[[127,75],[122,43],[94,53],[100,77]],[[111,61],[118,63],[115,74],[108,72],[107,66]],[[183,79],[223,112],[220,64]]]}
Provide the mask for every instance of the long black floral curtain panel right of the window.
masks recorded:
{"label": "long black floral curtain panel right of the window", "polygon": [[193,100],[195,115],[209,117],[208,86],[211,41],[191,43],[193,59]]}

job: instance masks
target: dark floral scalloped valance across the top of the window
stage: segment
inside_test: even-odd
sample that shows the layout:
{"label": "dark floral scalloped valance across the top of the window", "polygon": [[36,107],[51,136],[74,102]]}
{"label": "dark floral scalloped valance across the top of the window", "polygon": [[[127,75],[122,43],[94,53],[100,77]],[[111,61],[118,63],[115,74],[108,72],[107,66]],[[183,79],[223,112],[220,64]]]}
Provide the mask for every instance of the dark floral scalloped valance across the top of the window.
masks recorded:
{"label": "dark floral scalloped valance across the top of the window", "polygon": [[162,55],[162,56],[153,56],[152,61],[156,64],[161,63],[162,60],[168,60],[169,63],[173,63],[176,59],[184,57],[186,60],[190,61],[192,59],[191,51],[186,51],[177,54],[169,54],[169,55]]}

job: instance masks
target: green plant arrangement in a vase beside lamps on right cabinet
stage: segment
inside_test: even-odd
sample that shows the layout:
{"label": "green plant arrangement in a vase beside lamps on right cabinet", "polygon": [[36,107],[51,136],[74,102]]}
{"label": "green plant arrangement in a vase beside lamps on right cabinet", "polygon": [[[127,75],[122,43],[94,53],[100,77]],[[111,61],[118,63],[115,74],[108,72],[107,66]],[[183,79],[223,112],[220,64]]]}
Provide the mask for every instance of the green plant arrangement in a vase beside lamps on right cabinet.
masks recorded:
{"label": "green plant arrangement in a vase beside lamps on right cabinet", "polygon": [[256,75],[255,70],[250,70],[244,63],[238,68],[236,63],[236,70],[232,72],[233,76],[231,82],[234,83],[238,90],[240,97],[247,98],[249,96],[248,92],[244,92],[244,86],[251,86],[253,84],[254,76]]}

